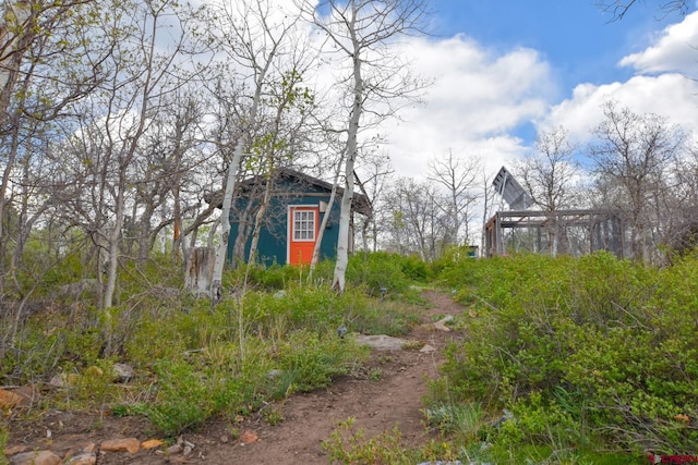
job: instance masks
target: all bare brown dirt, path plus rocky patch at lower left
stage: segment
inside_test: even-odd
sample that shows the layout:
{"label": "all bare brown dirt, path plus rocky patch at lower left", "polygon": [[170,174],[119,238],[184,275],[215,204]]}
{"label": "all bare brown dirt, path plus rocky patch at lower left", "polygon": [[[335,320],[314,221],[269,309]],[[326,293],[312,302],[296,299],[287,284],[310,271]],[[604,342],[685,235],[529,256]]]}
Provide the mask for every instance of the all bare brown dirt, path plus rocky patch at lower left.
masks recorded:
{"label": "all bare brown dirt, path plus rocky patch at lower left", "polygon": [[[323,450],[322,442],[329,438],[339,421],[349,417],[356,418],[356,428],[365,429],[369,437],[392,430],[397,425],[406,443],[423,443],[430,432],[423,424],[422,396],[428,393],[429,380],[437,377],[443,362],[442,348],[461,336],[435,330],[431,323],[436,316],[462,311],[445,294],[430,291],[424,297],[432,305],[422,310],[422,325],[405,339],[429,344],[436,348],[434,352],[424,353],[418,348],[374,351],[369,367],[362,370],[364,376],[346,376],[326,389],[269,405],[268,408],[275,408],[284,418],[276,426],[260,415],[260,418],[237,426],[239,432],[245,432],[240,438],[233,439],[227,421],[208,421],[197,432],[184,435],[183,439],[194,445],[188,456],[156,450],[141,450],[135,454],[106,452],[98,455],[97,463],[327,464],[329,455]],[[375,376],[368,376],[370,372]],[[147,429],[147,423],[137,417],[98,418],[55,411],[40,421],[12,425],[7,449],[51,450],[63,457],[69,451],[80,451],[107,439],[152,439],[144,437]],[[245,439],[251,442],[243,445]]]}

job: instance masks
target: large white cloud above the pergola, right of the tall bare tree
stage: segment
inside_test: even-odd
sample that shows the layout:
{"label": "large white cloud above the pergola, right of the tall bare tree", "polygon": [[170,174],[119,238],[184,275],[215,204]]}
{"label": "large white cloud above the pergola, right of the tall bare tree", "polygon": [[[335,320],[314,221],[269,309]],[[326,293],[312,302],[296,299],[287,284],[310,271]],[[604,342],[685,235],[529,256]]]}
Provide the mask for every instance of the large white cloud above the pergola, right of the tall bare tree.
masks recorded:
{"label": "large white cloud above the pergola, right of the tall bare tree", "polygon": [[423,106],[382,126],[400,174],[421,178],[426,160],[448,150],[478,156],[494,172],[522,152],[521,140],[508,132],[542,118],[555,91],[550,66],[537,51],[495,54],[465,36],[414,39],[408,50],[414,71],[435,83]]}

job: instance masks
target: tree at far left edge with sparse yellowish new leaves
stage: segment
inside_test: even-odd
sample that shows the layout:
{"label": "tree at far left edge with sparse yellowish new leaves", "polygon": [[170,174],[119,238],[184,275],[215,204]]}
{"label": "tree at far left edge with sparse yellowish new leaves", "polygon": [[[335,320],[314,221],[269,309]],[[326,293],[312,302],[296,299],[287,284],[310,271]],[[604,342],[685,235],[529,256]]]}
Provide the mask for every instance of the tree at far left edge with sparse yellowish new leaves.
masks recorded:
{"label": "tree at far left edge with sparse yellowish new leaves", "polygon": [[[31,222],[22,222],[38,219],[47,207],[36,204],[39,197],[25,199],[32,194],[28,186],[38,185],[38,167],[47,166],[38,159],[46,151],[36,148],[46,148],[50,125],[70,118],[69,107],[103,82],[107,72],[96,64],[111,50],[99,40],[84,40],[94,25],[91,19],[101,11],[97,2],[16,0],[0,10],[0,255],[8,256],[11,240],[7,213],[22,210],[15,230],[21,235],[14,237],[16,266],[32,230]],[[0,289],[3,265],[0,260]]]}

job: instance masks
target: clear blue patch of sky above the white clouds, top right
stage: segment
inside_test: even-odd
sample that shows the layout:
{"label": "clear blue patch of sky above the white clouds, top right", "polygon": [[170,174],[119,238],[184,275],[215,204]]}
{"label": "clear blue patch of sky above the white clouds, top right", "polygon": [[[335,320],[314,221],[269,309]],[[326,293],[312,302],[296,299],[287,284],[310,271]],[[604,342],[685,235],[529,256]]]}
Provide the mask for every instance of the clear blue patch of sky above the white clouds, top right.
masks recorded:
{"label": "clear blue patch of sky above the white clouds, top right", "polygon": [[434,0],[433,8],[437,35],[465,34],[501,51],[535,49],[552,63],[563,89],[629,77],[631,70],[617,61],[681,19],[638,2],[623,20],[613,21],[594,0]]}

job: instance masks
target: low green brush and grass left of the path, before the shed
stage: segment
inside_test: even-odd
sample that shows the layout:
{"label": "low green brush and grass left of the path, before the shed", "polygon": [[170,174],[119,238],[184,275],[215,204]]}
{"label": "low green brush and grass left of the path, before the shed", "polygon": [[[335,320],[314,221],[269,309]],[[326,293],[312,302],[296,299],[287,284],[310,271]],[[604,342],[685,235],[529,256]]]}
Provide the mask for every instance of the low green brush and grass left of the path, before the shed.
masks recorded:
{"label": "low green brush and grass left of the path, before the shed", "polygon": [[[67,259],[65,270],[51,270],[47,292],[86,276],[77,257]],[[329,289],[329,262],[318,264],[312,279],[306,267],[226,271],[230,292],[216,306],[173,292],[183,273],[168,256],[123,262],[117,305],[108,311],[97,310],[96,299],[82,299],[33,307],[35,314],[22,316],[13,346],[2,347],[0,375],[15,384],[48,381],[62,371],[71,384],[48,402],[144,415],[168,436],[214,415],[249,415],[270,400],[326,387],[357,369],[368,350],[340,339],[340,326],[400,334],[416,322],[401,304],[374,297],[381,296],[378,284],[387,286],[389,297],[411,292],[409,280],[423,279],[423,264],[388,254],[354,256],[351,262],[353,281],[342,294]],[[3,334],[10,334],[14,319],[0,318]],[[136,371],[129,389],[111,382],[117,360]],[[269,376],[275,370],[279,376]]]}

